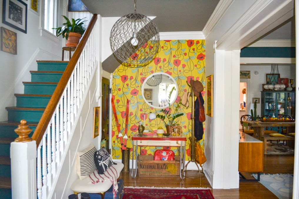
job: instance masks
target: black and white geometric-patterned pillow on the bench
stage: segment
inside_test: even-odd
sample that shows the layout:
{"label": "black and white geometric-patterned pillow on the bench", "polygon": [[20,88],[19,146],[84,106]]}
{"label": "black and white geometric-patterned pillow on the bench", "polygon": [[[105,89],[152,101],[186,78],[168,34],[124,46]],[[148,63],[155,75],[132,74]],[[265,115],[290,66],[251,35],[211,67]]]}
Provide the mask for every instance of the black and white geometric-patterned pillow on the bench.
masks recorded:
{"label": "black and white geometric-patterned pillow on the bench", "polygon": [[94,163],[97,167],[98,174],[104,174],[110,166],[115,164],[113,163],[110,154],[104,147],[94,152]]}

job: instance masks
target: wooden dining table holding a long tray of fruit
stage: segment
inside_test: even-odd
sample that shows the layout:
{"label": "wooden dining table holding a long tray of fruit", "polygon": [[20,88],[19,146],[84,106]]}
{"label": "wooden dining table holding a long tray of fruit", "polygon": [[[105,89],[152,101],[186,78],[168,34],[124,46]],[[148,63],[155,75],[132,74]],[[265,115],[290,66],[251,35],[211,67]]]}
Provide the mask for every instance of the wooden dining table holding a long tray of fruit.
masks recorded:
{"label": "wooden dining table holding a long tray of fruit", "polygon": [[265,127],[286,127],[286,132],[290,133],[295,127],[295,121],[243,121],[244,127],[252,127],[256,137],[262,140],[262,135],[265,135]]}

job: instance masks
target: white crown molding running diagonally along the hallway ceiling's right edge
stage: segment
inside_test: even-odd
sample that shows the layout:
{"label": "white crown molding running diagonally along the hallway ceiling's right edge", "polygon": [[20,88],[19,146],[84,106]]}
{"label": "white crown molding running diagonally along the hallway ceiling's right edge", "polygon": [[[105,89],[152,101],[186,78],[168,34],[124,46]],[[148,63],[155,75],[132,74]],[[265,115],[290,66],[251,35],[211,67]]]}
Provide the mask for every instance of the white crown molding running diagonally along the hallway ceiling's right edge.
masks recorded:
{"label": "white crown molding running diagonally along the hallway ceiling's right edge", "polygon": [[210,16],[208,22],[205,24],[205,27],[202,29],[202,32],[205,38],[208,37],[210,32],[222,18],[228,7],[232,4],[234,0],[220,0],[217,4],[215,10],[213,11],[212,15]]}

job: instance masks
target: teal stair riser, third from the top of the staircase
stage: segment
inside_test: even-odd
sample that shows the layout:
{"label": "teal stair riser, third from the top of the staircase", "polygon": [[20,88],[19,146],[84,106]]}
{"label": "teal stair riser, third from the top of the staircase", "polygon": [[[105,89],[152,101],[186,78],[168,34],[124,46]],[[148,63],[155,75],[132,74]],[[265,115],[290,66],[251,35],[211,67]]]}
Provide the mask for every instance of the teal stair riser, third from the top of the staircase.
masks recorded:
{"label": "teal stair riser, third from the top of the staircase", "polygon": [[25,94],[52,95],[57,84],[24,84]]}

